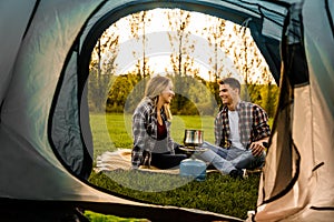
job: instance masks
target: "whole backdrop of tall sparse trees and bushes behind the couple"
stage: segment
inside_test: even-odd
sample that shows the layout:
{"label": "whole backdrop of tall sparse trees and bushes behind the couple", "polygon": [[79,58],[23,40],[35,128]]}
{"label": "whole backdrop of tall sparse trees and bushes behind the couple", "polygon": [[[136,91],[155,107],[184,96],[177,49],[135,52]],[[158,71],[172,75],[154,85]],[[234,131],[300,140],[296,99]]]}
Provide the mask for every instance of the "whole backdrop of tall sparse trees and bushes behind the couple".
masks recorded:
{"label": "whole backdrop of tall sparse trees and bushes behind the couple", "polygon": [[[174,79],[176,95],[171,111],[175,114],[213,115],[220,105],[217,80],[233,75],[247,85],[248,90],[243,92],[247,100],[263,107],[269,117],[274,115],[277,87],[272,84],[268,67],[248,28],[198,12],[180,9],[159,10],[159,13],[165,16],[161,17],[164,21],[160,23],[164,23],[171,50],[168,52],[170,64],[165,67],[165,71]],[[154,46],[153,41],[157,41],[154,38],[149,39],[148,31],[156,19],[155,14],[155,10],[129,14],[121,19],[124,23],[115,22],[98,39],[89,67],[90,111],[106,110],[119,113],[126,110],[131,113],[141,100],[145,82],[155,73],[149,65],[148,53],[151,50],[150,46]],[[194,26],[195,18],[207,21],[206,26],[198,29]],[[119,26],[127,26],[129,32],[121,31]],[[195,34],[199,34],[200,38],[194,39]],[[124,39],[136,40],[138,49],[130,49],[131,56],[119,56]],[[203,54],[207,53],[208,61],[196,58],[196,50],[203,50]],[[117,71],[118,59],[121,60],[122,57],[132,58],[128,64],[134,65],[127,73]],[[200,72],[195,60],[206,63],[207,73]],[[209,80],[202,79],[204,75],[208,75]]]}

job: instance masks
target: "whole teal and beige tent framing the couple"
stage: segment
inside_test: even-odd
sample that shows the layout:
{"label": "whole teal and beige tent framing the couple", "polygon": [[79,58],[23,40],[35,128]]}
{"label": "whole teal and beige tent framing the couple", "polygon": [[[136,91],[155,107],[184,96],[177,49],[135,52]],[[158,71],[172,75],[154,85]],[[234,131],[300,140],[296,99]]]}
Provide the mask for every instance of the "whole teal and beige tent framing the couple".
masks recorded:
{"label": "whole teal and beige tent framing the couple", "polygon": [[20,219],[14,216],[18,212],[33,221],[58,221],[77,208],[154,221],[167,220],[166,213],[168,221],[238,221],[138,202],[86,181],[94,152],[85,90],[89,54],[117,19],[154,8],[198,11],[239,24],[248,20],[281,88],[258,204],[249,220],[330,221],[334,216],[331,0],[1,1],[0,211],[11,221]]}

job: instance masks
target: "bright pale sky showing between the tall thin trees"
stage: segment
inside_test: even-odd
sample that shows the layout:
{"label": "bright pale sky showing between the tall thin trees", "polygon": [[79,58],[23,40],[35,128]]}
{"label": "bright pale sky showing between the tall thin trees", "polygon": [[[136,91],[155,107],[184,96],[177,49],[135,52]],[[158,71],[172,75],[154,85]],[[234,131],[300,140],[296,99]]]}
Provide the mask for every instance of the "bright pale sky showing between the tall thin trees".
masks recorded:
{"label": "bright pale sky showing between the tall thin trees", "polygon": [[[164,13],[164,10],[166,9],[155,9],[147,11],[147,18],[150,18],[150,20],[146,22],[145,27],[146,57],[149,58],[148,65],[154,71],[154,74],[166,73],[166,71],[173,72],[169,57],[170,53],[175,51],[175,49],[173,49],[168,39],[168,32],[170,33],[170,27],[168,26],[167,16],[166,13]],[[200,12],[190,12],[190,14],[191,19],[188,26],[188,30],[190,32],[189,41],[194,42],[195,48],[194,52],[189,52],[189,56],[194,58],[194,68],[199,69],[200,77],[205,80],[212,80],[208,74],[208,71],[212,70],[213,67],[213,64],[210,64],[209,62],[209,58],[214,54],[214,48],[208,44],[208,37],[203,30],[205,30],[205,28],[207,28],[208,26],[213,26],[215,19],[214,17]],[[109,30],[110,32],[112,32],[112,34],[119,34],[119,51],[116,59],[117,74],[124,74],[134,70],[137,60],[140,58],[143,59],[143,41],[141,39],[138,40],[131,37],[129,19],[130,16],[118,20],[116,22],[117,28],[114,27]],[[232,31],[233,28],[234,23],[226,23],[226,30]],[[252,38],[248,32],[247,34],[248,38]],[[143,38],[143,36],[140,36],[140,38]],[[239,40],[229,38],[226,41],[232,42]],[[239,42],[236,46],[240,44],[243,44],[243,42]],[[236,49],[236,52],[240,54],[245,53],[242,50],[242,48]],[[102,58],[108,59],[107,57]],[[220,75],[232,73],[232,75],[243,81],[240,71],[238,71],[236,64],[234,63],[234,60],[235,58],[232,54],[225,53],[225,49],[218,49],[218,67],[224,67],[224,73],[220,73]],[[261,65],[256,68],[257,70],[253,70],[254,73],[263,72],[264,67],[266,67],[266,69],[269,70],[263,58],[261,58]]]}

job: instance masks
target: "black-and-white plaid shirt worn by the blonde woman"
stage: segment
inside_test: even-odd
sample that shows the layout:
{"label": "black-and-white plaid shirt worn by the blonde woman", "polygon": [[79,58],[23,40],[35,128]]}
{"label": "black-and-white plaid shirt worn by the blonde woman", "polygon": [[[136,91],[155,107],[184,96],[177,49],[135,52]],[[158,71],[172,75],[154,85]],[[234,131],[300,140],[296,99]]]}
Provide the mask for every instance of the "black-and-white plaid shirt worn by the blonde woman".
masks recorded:
{"label": "black-and-white plaid shirt worn by the blonde woman", "polygon": [[[166,123],[167,139],[166,151],[174,151],[174,141],[170,138],[170,122],[167,121],[164,109],[160,110],[161,118]],[[136,108],[132,115],[132,135],[134,135],[134,148],[131,153],[132,168],[138,168],[144,163],[145,155],[150,157],[157,143],[157,113],[154,110],[154,104],[150,99],[146,98]],[[161,141],[159,141],[161,144]],[[150,160],[147,160],[148,164]]]}

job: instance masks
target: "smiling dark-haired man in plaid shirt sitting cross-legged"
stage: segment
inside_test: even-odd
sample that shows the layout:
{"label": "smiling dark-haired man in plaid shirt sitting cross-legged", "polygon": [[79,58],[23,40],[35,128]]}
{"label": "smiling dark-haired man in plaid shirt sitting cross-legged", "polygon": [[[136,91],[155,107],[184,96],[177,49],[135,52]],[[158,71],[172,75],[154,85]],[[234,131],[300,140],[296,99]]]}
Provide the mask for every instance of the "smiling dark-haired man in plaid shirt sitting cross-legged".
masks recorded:
{"label": "smiling dark-haired man in plaid shirt sitting cross-legged", "polygon": [[257,104],[240,100],[240,83],[234,78],[219,81],[223,109],[215,119],[215,144],[198,158],[223,174],[245,178],[246,169],[261,168],[271,129],[267,113]]}

